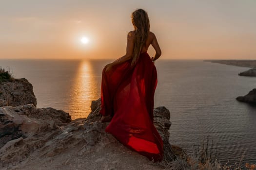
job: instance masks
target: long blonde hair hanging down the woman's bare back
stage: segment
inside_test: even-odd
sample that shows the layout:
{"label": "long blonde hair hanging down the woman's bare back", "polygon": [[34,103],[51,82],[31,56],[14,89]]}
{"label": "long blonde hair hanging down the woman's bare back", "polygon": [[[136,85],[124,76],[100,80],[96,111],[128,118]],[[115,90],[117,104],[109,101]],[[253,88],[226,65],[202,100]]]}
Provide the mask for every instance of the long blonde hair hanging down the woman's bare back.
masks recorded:
{"label": "long blonde hair hanging down the woman's bare back", "polygon": [[145,10],[137,9],[132,13],[132,23],[135,30],[134,51],[131,66],[134,66],[139,58],[139,54],[146,43],[149,34],[149,17]]}

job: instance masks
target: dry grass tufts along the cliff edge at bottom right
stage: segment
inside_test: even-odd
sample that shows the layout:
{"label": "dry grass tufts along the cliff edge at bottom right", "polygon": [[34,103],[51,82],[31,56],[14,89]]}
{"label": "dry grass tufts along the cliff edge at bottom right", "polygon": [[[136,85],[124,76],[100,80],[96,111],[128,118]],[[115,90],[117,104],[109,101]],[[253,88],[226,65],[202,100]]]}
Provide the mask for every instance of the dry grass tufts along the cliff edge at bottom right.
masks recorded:
{"label": "dry grass tufts along the cliff edge at bottom right", "polygon": [[163,160],[156,164],[164,170],[256,170],[254,164],[246,163],[242,166],[244,154],[235,165],[221,165],[218,161],[217,145],[209,136],[203,139],[201,145],[194,145],[192,154],[184,154],[188,155],[186,159],[177,156],[177,159],[171,162]]}

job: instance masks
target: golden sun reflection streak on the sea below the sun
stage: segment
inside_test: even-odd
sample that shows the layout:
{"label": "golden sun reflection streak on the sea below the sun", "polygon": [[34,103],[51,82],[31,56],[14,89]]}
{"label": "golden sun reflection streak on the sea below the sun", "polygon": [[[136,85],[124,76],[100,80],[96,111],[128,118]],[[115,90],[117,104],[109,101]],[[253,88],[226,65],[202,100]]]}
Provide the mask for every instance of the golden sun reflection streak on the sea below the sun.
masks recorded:
{"label": "golden sun reflection streak on the sea below the sun", "polygon": [[85,118],[91,111],[91,101],[99,98],[100,91],[90,61],[81,61],[71,87],[69,111],[72,119]]}

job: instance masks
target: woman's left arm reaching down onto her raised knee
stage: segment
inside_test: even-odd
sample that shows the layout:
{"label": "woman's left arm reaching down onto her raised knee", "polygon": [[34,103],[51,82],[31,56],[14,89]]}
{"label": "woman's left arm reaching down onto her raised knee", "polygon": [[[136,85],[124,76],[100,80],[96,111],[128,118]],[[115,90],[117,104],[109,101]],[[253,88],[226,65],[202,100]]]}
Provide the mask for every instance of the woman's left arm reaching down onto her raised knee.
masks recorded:
{"label": "woman's left arm reaching down onto her raised knee", "polygon": [[124,63],[127,60],[130,60],[133,57],[133,48],[134,48],[134,34],[129,32],[127,35],[127,45],[126,45],[126,54],[120,57],[118,60],[113,63],[108,64],[106,71],[110,70],[113,66]]}

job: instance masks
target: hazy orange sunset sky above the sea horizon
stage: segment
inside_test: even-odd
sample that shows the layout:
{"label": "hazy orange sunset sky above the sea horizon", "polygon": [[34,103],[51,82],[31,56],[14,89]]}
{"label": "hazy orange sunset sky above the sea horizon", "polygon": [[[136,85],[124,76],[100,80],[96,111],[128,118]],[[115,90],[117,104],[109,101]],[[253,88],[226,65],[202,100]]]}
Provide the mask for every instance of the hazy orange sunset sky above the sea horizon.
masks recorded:
{"label": "hazy orange sunset sky above the sea horizon", "polygon": [[119,58],[137,8],[162,59],[256,59],[256,0],[0,0],[0,59]]}

